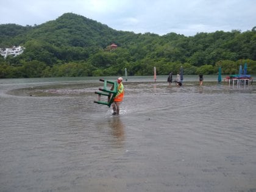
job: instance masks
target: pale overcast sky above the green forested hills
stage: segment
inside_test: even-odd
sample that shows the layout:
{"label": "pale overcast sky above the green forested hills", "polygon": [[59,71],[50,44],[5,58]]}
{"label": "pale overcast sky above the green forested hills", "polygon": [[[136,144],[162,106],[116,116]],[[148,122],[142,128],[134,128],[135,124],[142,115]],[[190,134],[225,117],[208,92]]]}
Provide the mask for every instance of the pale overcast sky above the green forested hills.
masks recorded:
{"label": "pale overcast sky above the green forested hills", "polygon": [[42,24],[76,13],[116,30],[135,33],[251,30],[256,0],[0,0],[0,24]]}

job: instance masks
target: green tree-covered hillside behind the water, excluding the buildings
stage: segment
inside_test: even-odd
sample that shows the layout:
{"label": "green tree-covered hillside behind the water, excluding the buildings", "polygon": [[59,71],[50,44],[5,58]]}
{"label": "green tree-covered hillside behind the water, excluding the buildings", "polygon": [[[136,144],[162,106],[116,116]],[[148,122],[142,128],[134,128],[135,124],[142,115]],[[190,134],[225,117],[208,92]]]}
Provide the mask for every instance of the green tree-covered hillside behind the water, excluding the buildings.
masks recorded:
{"label": "green tree-covered hillside behind the water, excluding the buildings", "polygon": [[[110,48],[115,43],[118,48]],[[200,32],[193,37],[135,34],[111,29],[74,13],[38,26],[0,25],[0,48],[23,46],[17,57],[0,57],[0,78],[238,73],[247,63],[256,74],[256,31]]]}

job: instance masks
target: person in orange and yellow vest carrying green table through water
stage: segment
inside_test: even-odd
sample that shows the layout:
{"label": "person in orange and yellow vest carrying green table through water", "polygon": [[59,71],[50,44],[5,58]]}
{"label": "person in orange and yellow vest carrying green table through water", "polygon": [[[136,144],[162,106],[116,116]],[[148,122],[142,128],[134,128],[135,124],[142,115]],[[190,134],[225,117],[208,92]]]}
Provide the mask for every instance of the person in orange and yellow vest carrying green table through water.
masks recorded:
{"label": "person in orange and yellow vest carrying green table through water", "polygon": [[123,78],[119,77],[117,82],[118,82],[118,93],[116,94],[115,98],[114,98],[114,102],[112,104],[112,108],[113,108],[113,114],[112,115],[119,115],[119,105],[121,104],[121,102],[123,101],[124,98],[124,85],[122,83]]}

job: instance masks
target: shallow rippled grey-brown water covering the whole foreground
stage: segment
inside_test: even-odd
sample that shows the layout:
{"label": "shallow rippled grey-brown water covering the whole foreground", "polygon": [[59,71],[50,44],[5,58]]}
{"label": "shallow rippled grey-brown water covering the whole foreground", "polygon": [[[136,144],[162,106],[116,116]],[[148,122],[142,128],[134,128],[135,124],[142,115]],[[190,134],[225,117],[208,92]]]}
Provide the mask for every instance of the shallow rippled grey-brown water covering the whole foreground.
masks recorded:
{"label": "shallow rippled grey-brown water covering the whole foreground", "polygon": [[[103,77],[115,80],[116,77]],[[216,76],[0,79],[0,191],[256,191],[256,85]]]}

